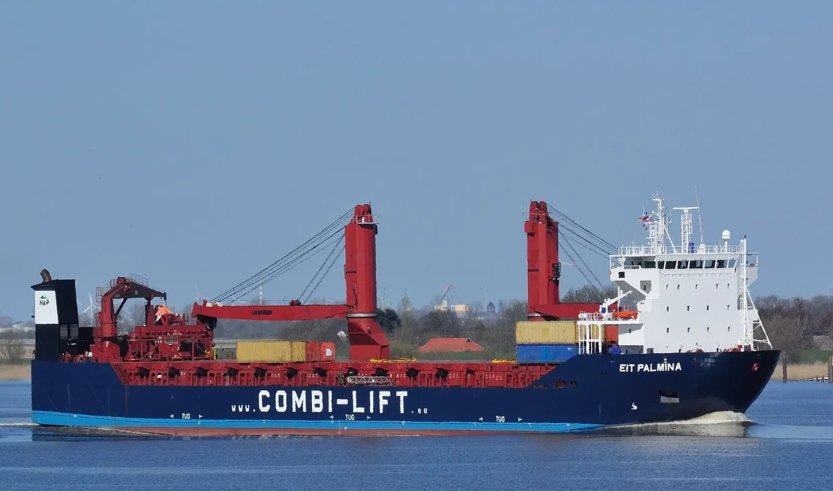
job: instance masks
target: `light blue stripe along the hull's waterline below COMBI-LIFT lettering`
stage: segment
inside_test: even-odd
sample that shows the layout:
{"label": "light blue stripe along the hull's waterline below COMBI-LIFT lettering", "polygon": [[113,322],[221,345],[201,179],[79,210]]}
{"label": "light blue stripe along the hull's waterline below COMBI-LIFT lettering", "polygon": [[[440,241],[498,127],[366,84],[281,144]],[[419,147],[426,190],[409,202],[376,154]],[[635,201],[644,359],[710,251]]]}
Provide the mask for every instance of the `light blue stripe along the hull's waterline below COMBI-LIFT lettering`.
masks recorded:
{"label": "light blue stripe along the hull's waterline below COMBI-LIFT lettering", "polygon": [[182,419],[182,418],[113,418],[88,414],[32,411],[32,423],[53,426],[84,426],[105,428],[263,428],[317,430],[434,430],[434,431],[515,431],[563,433],[596,428],[589,423],[462,423],[446,421],[307,421],[303,419]]}

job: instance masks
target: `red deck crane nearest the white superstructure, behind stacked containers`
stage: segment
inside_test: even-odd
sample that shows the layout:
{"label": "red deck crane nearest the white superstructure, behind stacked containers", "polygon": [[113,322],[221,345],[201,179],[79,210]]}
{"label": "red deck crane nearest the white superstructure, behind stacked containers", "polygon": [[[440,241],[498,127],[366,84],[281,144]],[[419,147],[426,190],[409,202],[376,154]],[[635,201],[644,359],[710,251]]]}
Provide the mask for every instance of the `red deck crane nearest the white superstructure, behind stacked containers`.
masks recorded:
{"label": "red deck crane nearest the white superstructure, behind stacked containers", "polygon": [[524,222],[524,230],[529,300],[527,318],[533,321],[556,320],[578,318],[581,312],[598,312],[598,303],[561,303],[558,222],[550,217],[546,203],[530,203],[529,219]]}

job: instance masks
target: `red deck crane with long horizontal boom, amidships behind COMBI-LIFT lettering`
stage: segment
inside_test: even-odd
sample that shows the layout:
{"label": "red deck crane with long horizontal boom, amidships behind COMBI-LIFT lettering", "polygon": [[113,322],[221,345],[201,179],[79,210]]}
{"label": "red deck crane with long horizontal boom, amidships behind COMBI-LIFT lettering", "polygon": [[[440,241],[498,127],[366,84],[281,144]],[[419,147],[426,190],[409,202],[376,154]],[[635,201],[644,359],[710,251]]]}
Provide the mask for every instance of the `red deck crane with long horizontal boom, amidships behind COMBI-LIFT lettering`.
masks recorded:
{"label": "red deck crane with long horizontal boom, amidships behind COMBI-LIFT lettering", "polygon": [[344,279],[347,303],[343,305],[217,305],[194,303],[192,317],[214,328],[218,318],[241,320],[292,321],[320,318],[347,318],[350,359],[389,358],[390,347],[382,326],[377,323],[376,291],[377,221],[369,204],[357,205],[344,227]]}

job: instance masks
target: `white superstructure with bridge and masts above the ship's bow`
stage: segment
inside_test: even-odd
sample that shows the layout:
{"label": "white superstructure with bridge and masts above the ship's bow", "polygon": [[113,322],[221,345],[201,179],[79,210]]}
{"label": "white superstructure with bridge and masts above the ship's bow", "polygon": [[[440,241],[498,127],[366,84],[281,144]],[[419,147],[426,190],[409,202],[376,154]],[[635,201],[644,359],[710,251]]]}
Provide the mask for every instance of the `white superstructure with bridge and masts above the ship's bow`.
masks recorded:
{"label": "white superstructure with bridge and masts above the ship's bow", "polygon": [[[663,200],[654,201],[656,212],[641,218],[648,245],[621,247],[611,255],[611,281],[620,295],[606,301],[600,313],[582,313],[579,325],[618,325],[623,353],[771,348],[749,292],[758,278],[758,258],[747,251],[746,238],[731,243],[725,230],[721,243],[695,245],[691,211],[697,208],[673,208],[681,214],[676,246]],[[613,303],[618,305],[611,312],[607,306]],[[601,350],[598,337],[582,337],[581,351]]]}

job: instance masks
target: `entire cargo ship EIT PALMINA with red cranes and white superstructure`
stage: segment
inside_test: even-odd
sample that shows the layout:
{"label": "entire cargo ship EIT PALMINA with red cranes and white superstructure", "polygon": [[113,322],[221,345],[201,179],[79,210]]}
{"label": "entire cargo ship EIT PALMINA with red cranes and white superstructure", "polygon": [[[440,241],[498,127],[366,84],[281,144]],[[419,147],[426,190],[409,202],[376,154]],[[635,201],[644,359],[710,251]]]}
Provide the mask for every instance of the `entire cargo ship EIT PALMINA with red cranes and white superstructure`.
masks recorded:
{"label": "entire cargo ship EIT PALMINA with red cranes and white superstructure", "polygon": [[[680,208],[675,246],[655,199],[656,212],[639,224],[649,243],[606,256],[618,294],[601,303],[560,301],[559,223],[580,226],[530,203],[528,313],[516,325],[514,360],[391,358],[377,322],[378,223],[367,204],[213,301],[194,303],[190,316],[131,275],[98,288],[96,325],[79,326],[74,280],[43,270],[32,285],[32,422],[197,436],[552,433],[743,413],[779,358],[749,293],[757,256],[728,232],[717,245],[695,246],[693,208]],[[345,303],[234,301],[299,254],[333,244],[319,272],[328,270],[342,243]],[[145,323],[120,333],[130,298],[141,299]],[[241,342],[237,359],[217,359],[218,319],[316,318],[346,320],[349,359],[337,359],[333,343],[310,341]]]}

